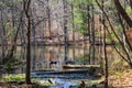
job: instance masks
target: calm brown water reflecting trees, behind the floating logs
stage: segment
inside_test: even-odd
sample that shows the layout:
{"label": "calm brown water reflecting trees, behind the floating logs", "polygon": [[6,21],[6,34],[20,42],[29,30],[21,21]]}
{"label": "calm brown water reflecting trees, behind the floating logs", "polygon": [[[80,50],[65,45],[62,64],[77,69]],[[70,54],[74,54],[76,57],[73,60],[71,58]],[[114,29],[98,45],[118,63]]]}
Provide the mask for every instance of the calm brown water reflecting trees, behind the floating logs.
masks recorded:
{"label": "calm brown water reflecting trees, behind the floating logs", "polygon": [[[92,47],[33,46],[31,48],[31,70],[62,70],[62,66],[66,64],[99,65],[101,59],[99,48],[96,47],[95,56],[92,52]],[[25,47],[16,47],[16,58],[25,61]],[[24,73],[25,68],[20,67],[16,72]]]}

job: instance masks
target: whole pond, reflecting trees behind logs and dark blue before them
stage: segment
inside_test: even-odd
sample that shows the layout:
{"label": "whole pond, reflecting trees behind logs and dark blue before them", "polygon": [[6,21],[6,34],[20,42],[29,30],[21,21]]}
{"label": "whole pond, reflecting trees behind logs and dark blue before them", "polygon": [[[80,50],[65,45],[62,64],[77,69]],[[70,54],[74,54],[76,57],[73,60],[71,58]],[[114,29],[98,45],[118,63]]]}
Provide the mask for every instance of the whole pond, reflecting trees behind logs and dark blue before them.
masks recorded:
{"label": "whole pond, reflecting trees behind logs and dark blue before them", "polygon": [[[95,50],[94,50],[95,48]],[[79,80],[88,79],[97,80],[98,78],[94,77],[91,73],[90,75],[84,70],[76,70],[73,73],[61,74],[58,72],[64,72],[63,66],[70,65],[101,65],[103,61],[103,48],[101,46],[69,46],[65,48],[65,46],[32,46],[31,47],[31,74],[35,78],[42,78],[45,80],[48,78],[61,78],[61,79],[70,79],[70,80]],[[112,61],[116,57],[113,53],[113,48],[111,46],[107,47],[108,51],[108,59]],[[15,57],[21,61],[25,61],[26,58],[26,48],[25,46],[16,46]],[[46,72],[45,70],[57,70],[56,72]],[[35,72],[35,73],[34,73]],[[77,73],[78,72],[78,73]],[[80,73],[82,72],[82,73]],[[18,68],[14,74],[24,74],[25,66]],[[54,74],[53,74],[54,73]],[[45,79],[43,79],[45,78]],[[64,80],[65,81],[65,80]]]}

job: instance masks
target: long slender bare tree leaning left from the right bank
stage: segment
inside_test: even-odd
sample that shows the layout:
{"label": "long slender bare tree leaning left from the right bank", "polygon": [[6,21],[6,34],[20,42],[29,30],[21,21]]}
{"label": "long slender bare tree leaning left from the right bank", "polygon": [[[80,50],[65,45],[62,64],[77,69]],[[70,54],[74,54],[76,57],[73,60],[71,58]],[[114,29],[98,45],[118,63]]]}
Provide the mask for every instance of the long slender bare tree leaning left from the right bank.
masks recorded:
{"label": "long slender bare tree leaning left from the right bank", "polygon": [[[99,6],[99,8],[101,9],[103,15],[106,16],[106,20],[108,21],[108,23],[109,23],[109,25],[110,25],[110,28],[111,28],[111,31],[110,31],[110,30],[108,30],[108,26],[105,25],[105,26],[107,28],[107,32],[114,34],[114,36],[116,36],[114,40],[117,40],[117,42],[119,42],[119,45],[122,47],[122,51],[123,51],[124,53],[121,53],[121,51],[119,51],[119,48],[117,48],[117,46],[114,46],[114,47],[116,47],[116,51],[119,53],[119,55],[122,57],[122,59],[125,61],[125,62],[129,64],[129,66],[132,68],[132,59],[131,59],[131,53],[132,53],[132,51],[131,51],[131,46],[128,44],[129,47],[130,47],[130,52],[128,52],[128,50],[125,48],[125,45],[124,45],[123,41],[122,41],[121,37],[119,36],[119,33],[116,32],[116,28],[113,26],[113,23],[111,22],[111,20],[110,20],[110,18],[108,16],[107,12],[103,10],[103,8],[101,7],[101,4],[99,3],[98,0],[96,0],[96,2],[97,2],[97,4]],[[127,16],[127,15],[125,15],[125,16]],[[130,23],[131,23],[131,21],[130,21]],[[130,26],[130,28],[131,28],[131,26]]]}

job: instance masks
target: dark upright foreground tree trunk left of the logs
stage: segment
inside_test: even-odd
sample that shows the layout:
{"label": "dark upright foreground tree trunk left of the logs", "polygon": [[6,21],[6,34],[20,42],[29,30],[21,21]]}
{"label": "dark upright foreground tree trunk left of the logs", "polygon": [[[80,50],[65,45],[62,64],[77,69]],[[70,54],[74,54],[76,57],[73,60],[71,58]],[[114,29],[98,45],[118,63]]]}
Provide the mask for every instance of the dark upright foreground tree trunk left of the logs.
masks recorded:
{"label": "dark upright foreground tree trunk left of the logs", "polygon": [[31,18],[30,18],[30,3],[31,0],[23,0],[23,8],[26,16],[26,38],[28,38],[28,44],[26,44],[26,74],[25,74],[25,82],[28,85],[31,84],[31,78],[30,78],[30,73],[31,73]]}

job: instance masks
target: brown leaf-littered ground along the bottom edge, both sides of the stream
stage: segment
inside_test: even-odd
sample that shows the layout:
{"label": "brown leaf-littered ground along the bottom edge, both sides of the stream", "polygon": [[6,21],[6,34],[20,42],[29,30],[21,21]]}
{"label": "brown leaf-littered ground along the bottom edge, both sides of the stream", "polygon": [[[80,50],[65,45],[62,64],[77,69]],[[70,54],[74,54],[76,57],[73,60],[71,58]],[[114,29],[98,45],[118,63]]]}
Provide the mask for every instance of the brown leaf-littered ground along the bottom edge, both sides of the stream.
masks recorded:
{"label": "brown leaf-littered ground along the bottom edge, both sides of the stream", "polygon": [[[92,85],[92,87],[88,87],[88,84],[90,82],[89,80],[84,80],[85,85],[82,84],[82,81],[78,82],[78,88],[84,88],[84,87],[79,87],[79,86],[87,86],[87,88],[103,88],[103,82],[101,82],[102,79],[99,79],[96,81],[96,85]],[[19,86],[25,86],[23,85],[24,82],[0,82],[0,88],[1,87],[7,87],[10,88],[10,86],[14,86],[14,87],[19,87]],[[98,85],[100,84],[100,85]],[[40,88],[37,87],[37,85],[35,84],[35,87],[31,87],[31,88]],[[132,88],[132,69],[127,69],[123,73],[117,73],[114,75],[110,75],[109,76],[109,88]]]}

